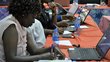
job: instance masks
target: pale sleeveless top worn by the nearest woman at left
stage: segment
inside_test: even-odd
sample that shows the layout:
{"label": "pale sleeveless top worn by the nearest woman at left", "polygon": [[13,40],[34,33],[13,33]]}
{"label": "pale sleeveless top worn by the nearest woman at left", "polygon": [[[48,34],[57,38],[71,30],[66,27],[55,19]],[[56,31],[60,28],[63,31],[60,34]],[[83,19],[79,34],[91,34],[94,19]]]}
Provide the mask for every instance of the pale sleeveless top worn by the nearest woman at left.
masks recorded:
{"label": "pale sleeveless top worn by the nearest woman at left", "polygon": [[26,55],[26,30],[20,23],[12,16],[8,15],[0,21],[0,62],[5,62],[4,48],[2,36],[7,27],[11,24],[15,24],[18,31],[18,45],[17,45],[17,55],[25,56]]}

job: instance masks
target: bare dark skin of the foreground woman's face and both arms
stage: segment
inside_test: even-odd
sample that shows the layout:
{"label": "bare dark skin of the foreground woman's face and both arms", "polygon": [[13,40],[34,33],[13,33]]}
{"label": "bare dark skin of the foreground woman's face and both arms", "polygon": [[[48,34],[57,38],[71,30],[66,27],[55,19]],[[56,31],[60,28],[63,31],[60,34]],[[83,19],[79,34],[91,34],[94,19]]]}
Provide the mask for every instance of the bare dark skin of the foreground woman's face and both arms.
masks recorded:
{"label": "bare dark skin of the foreground woman's face and both arms", "polygon": [[[16,18],[21,26],[28,27],[34,22],[31,14]],[[32,21],[33,20],[33,21]],[[11,35],[11,36],[10,36]],[[11,24],[3,33],[3,47],[5,52],[6,62],[29,62],[39,59],[53,59],[53,55],[49,52],[50,48],[36,48],[35,42],[27,35],[27,48],[31,54],[39,54],[32,56],[17,56],[18,32],[14,24]],[[45,52],[45,53],[44,53]]]}

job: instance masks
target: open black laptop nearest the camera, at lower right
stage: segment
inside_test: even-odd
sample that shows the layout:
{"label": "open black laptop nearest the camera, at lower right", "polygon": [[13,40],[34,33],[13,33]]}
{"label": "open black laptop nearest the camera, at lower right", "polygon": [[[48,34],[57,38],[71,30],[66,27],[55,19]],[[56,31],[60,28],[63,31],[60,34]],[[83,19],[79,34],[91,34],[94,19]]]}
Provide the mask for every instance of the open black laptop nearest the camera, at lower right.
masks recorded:
{"label": "open black laptop nearest the camera, at lower right", "polygon": [[110,25],[96,48],[69,48],[71,60],[101,60],[110,49]]}

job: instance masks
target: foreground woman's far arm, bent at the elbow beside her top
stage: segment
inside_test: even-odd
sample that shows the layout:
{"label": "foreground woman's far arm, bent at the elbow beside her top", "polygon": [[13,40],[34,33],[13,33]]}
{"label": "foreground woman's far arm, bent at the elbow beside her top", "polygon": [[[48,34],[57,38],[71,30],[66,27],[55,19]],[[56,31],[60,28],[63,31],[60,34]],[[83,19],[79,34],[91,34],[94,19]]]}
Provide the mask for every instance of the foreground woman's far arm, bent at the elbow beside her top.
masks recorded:
{"label": "foreground woman's far arm, bent at the elbow beside her top", "polygon": [[27,34],[27,50],[30,54],[41,54],[49,52],[50,48],[37,48],[36,41],[31,32],[28,31]]}

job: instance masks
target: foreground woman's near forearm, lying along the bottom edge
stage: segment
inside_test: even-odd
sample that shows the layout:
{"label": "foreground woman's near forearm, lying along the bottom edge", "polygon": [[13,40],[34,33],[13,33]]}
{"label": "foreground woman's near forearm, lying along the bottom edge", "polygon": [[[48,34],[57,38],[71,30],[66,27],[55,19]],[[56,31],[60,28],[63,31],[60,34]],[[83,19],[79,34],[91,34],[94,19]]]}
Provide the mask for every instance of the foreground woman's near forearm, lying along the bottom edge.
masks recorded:
{"label": "foreground woman's near forearm, lying along the bottom edge", "polygon": [[51,53],[44,53],[33,56],[15,56],[10,60],[6,60],[6,62],[29,62],[29,61],[46,60],[46,59],[53,59]]}

